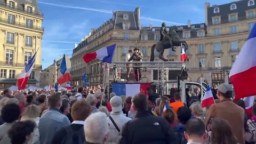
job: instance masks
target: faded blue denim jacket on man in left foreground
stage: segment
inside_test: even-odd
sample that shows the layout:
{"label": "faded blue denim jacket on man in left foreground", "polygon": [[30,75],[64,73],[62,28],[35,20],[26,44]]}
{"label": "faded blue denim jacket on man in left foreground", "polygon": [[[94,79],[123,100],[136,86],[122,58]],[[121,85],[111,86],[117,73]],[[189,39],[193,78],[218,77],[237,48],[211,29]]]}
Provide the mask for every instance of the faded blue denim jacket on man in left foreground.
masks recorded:
{"label": "faded blue denim jacket on man in left foreground", "polygon": [[39,143],[51,143],[55,132],[68,125],[70,121],[67,116],[61,114],[59,109],[49,108],[39,120]]}

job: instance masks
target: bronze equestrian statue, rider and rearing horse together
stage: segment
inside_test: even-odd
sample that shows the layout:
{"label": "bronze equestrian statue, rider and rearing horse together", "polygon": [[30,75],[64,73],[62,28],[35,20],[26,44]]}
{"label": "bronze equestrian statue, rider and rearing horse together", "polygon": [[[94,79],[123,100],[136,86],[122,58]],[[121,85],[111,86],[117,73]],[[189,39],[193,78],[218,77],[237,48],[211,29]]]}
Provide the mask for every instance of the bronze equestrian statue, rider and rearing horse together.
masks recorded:
{"label": "bronze equestrian statue, rider and rearing horse together", "polygon": [[166,30],[165,22],[163,22],[160,30],[160,35],[161,35],[160,41],[151,47],[150,61],[155,60],[155,54],[154,54],[155,49],[159,52],[158,57],[163,61],[168,61],[163,57],[165,49],[171,48],[172,51],[175,51],[174,46],[182,45],[185,48],[185,52],[186,52],[188,49],[188,44],[186,43],[186,41],[180,40],[179,33],[182,33],[182,30],[180,30],[179,27],[177,26],[172,26],[170,27],[169,34],[168,34]]}

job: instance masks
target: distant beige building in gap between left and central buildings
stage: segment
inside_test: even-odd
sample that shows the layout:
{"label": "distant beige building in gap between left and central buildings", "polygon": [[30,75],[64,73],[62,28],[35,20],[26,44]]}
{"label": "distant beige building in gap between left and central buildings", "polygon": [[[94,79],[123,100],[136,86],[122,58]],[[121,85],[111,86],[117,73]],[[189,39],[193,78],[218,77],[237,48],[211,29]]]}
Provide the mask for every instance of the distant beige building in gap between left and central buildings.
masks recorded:
{"label": "distant beige building in gap between left and central buildings", "polygon": [[[39,82],[40,87],[43,88],[43,87],[49,86],[49,85],[51,87],[54,87],[55,82],[57,82],[57,79],[58,79],[60,63],[61,63],[62,58],[63,58],[63,56],[58,61],[53,60],[53,63],[51,66],[45,68],[44,70],[41,70],[40,82]],[[65,55],[65,59],[66,59],[67,71],[70,71],[71,61],[69,59],[69,56]],[[62,84],[61,86],[66,86],[66,83]]]}

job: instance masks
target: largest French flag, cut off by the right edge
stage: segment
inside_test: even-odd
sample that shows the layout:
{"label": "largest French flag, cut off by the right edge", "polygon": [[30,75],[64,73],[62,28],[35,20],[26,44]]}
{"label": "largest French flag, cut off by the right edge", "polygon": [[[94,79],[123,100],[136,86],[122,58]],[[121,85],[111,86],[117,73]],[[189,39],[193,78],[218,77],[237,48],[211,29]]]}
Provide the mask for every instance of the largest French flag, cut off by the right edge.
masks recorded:
{"label": "largest French flag, cut off by the right edge", "polygon": [[233,67],[230,70],[230,81],[236,91],[234,100],[256,95],[256,25],[244,43]]}

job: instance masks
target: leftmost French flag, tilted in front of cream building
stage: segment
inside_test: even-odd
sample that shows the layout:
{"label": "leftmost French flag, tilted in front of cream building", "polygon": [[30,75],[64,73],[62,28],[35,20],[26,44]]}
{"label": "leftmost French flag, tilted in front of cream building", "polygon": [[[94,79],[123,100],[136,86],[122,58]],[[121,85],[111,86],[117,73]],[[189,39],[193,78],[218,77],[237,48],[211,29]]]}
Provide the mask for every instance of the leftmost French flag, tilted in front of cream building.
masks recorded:
{"label": "leftmost French flag, tilted in front of cream building", "polygon": [[17,79],[18,90],[25,90],[26,84],[28,82],[29,75],[31,74],[31,71],[33,69],[35,60],[36,60],[36,53],[28,61],[28,64],[26,65],[25,69],[22,70],[21,74]]}

